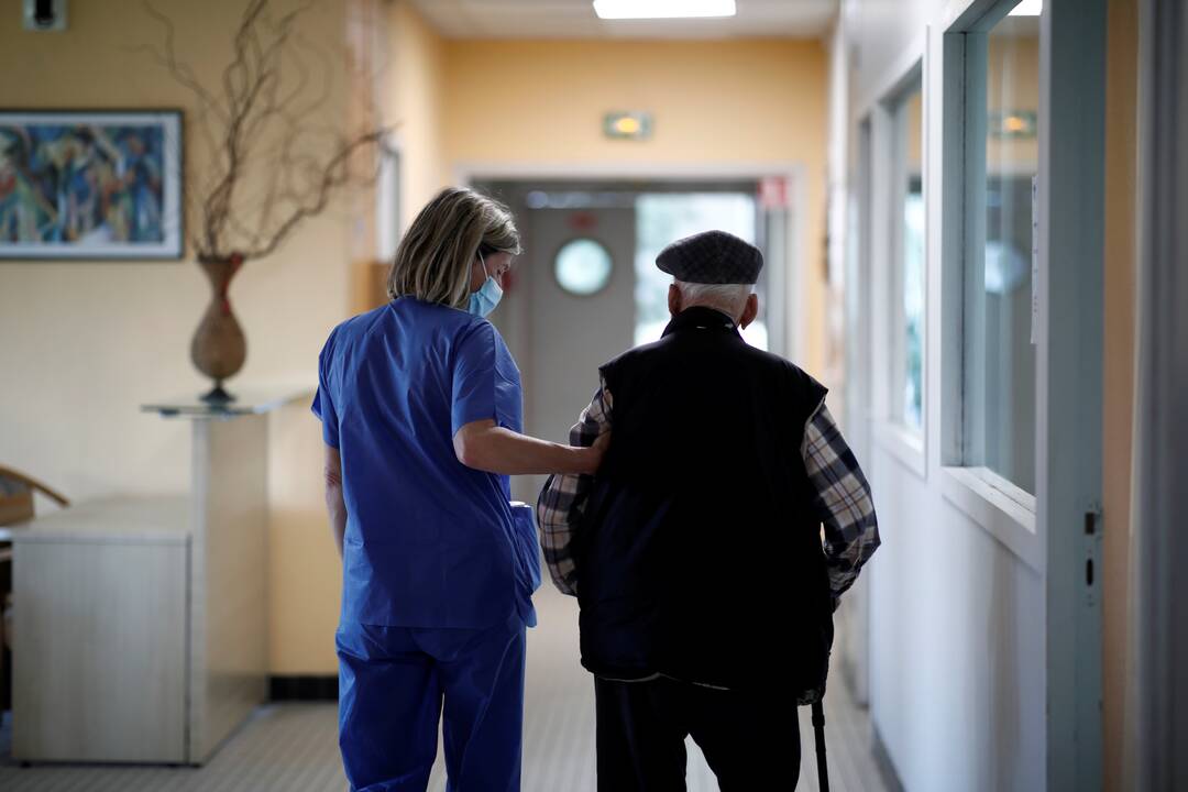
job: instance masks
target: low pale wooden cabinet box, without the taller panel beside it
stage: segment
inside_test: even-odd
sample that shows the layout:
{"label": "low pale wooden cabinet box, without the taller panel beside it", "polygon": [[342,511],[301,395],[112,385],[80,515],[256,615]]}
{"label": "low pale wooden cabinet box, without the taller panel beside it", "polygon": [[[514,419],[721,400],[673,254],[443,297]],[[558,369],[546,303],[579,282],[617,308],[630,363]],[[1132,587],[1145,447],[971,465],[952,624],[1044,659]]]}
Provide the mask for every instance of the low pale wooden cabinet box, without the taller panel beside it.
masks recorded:
{"label": "low pale wooden cabinet box, without the taller panel beside it", "polygon": [[15,533],[15,758],[187,761],[188,513],[96,501]]}

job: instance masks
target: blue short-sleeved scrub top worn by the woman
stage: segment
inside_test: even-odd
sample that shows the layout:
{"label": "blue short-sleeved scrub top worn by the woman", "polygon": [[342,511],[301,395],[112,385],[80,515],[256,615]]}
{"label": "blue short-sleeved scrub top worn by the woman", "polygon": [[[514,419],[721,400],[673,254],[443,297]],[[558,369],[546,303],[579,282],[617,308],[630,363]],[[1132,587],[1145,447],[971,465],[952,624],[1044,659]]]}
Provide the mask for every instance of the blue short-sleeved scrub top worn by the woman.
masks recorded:
{"label": "blue short-sleeved scrub top worn by the woman", "polygon": [[513,517],[507,476],[454,452],[470,422],[522,431],[522,401],[499,331],[465,311],[404,297],[334,329],[312,410],[342,458],[343,623],[535,621],[531,519]]}

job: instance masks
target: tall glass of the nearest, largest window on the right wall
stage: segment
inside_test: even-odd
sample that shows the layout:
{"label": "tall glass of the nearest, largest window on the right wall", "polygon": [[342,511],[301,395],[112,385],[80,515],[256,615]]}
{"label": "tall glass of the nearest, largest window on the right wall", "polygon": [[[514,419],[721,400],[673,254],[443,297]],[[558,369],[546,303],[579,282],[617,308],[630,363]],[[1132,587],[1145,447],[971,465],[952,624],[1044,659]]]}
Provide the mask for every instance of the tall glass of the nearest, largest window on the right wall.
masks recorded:
{"label": "tall glass of the nearest, largest window on the right wall", "polygon": [[1040,18],[1023,5],[967,37],[965,457],[1035,493]]}

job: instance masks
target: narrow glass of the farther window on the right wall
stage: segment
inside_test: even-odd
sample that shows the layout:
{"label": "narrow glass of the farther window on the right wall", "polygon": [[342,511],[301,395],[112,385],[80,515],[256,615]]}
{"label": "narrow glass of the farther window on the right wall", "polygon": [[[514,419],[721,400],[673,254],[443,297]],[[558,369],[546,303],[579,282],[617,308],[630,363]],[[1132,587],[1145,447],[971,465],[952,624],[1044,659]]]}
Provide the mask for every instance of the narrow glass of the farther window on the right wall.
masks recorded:
{"label": "narrow glass of the farther window on the right wall", "polygon": [[892,106],[891,420],[924,425],[923,94],[920,78]]}

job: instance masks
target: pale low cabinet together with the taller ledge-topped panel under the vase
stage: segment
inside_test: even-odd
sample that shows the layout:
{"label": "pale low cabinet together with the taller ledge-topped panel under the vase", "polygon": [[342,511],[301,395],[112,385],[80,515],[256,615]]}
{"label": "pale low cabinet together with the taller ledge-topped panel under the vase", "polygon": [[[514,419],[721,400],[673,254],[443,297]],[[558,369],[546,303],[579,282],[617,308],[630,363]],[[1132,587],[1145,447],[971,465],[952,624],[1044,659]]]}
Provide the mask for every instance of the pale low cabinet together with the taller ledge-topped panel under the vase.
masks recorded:
{"label": "pale low cabinet together with the taller ledge-topped panel under the vase", "polygon": [[267,696],[267,414],[194,424],[190,492],[12,531],[13,756],[202,764]]}

